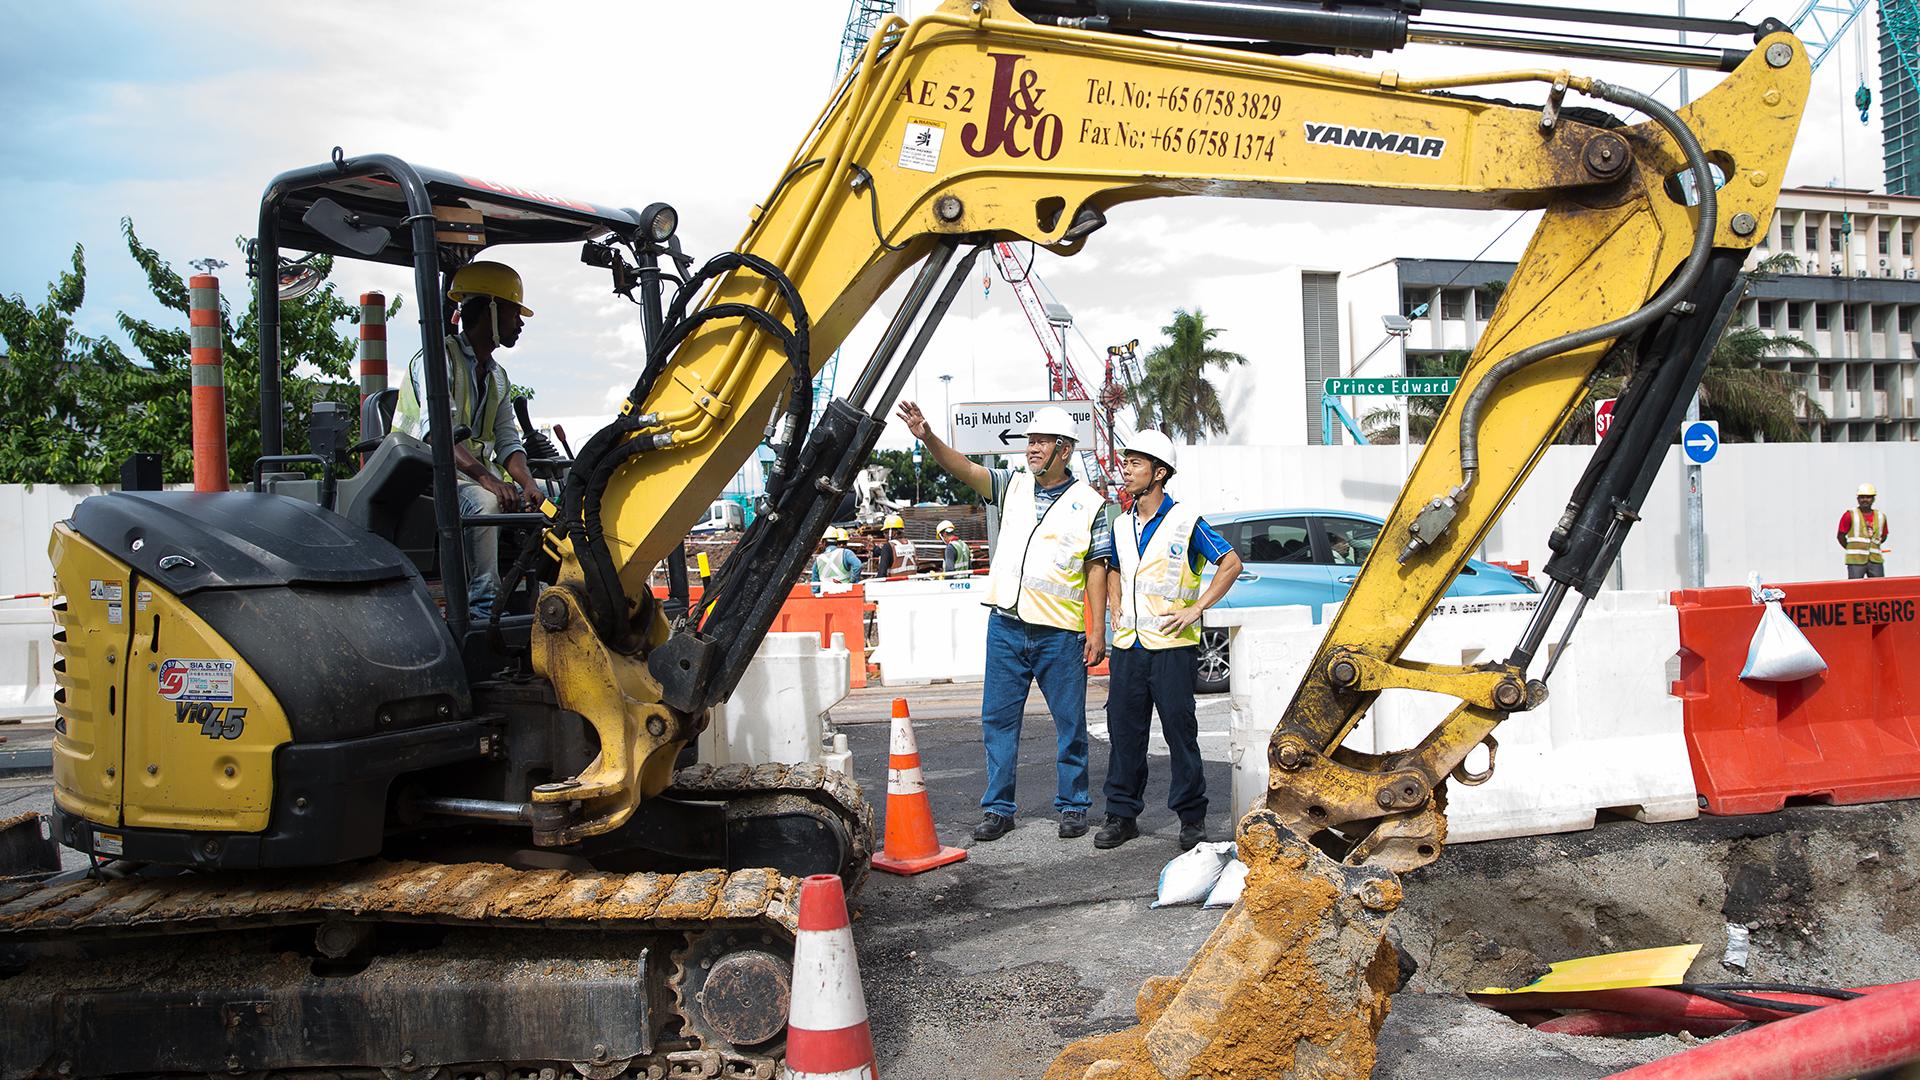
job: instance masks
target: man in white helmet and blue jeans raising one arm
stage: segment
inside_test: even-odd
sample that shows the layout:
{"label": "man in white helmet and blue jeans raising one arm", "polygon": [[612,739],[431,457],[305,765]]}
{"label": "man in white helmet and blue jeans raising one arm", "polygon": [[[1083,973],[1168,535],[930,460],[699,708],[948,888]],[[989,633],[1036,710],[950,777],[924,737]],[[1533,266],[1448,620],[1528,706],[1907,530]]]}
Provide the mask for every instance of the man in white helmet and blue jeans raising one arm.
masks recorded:
{"label": "man in white helmet and blue jeans raising one arm", "polygon": [[1087,834],[1087,669],[1106,655],[1102,634],[1087,634],[1087,600],[1094,625],[1106,621],[1106,573],[1114,532],[1106,500],[1068,469],[1073,417],[1058,405],[1027,425],[1027,469],[987,469],[941,442],[914,402],[900,419],[927,444],[941,469],[1000,507],[1000,542],[987,575],[987,680],[981,692],[981,736],[987,744],[987,794],[973,840],[998,840],[1014,828],[1014,771],[1020,763],[1020,719],[1027,690],[1039,682],[1054,715],[1054,811],[1060,836]]}

